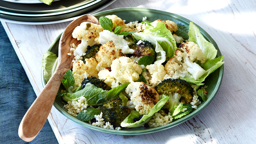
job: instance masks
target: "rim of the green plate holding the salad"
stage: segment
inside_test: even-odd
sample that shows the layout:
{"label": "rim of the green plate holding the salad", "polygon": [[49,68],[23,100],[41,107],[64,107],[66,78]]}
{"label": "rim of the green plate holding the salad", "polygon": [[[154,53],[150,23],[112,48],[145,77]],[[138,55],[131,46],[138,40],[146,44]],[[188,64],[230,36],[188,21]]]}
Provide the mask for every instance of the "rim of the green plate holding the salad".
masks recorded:
{"label": "rim of the green plate holding the salad", "polygon": [[[116,8],[116,9],[111,9],[111,10],[105,10],[105,11],[102,11],[102,12],[98,12],[98,13],[95,13],[93,14],[94,16],[99,16],[99,15],[102,15],[102,14],[106,14],[106,13],[111,13],[112,11],[127,11],[127,10],[134,10],[134,9],[138,9],[138,10],[150,10],[150,12],[155,12],[155,13],[164,13],[164,14],[169,14],[169,15],[173,15],[177,18],[182,18],[182,19],[185,19],[185,22],[189,23],[190,20],[184,18],[184,17],[181,17],[177,14],[173,14],[173,13],[169,13],[169,12],[164,12],[164,11],[161,11],[161,10],[155,10],[155,9],[149,9],[149,8],[137,8],[137,7],[128,7],[128,8]],[[189,22],[188,22],[189,21]],[[195,24],[195,23],[194,23]],[[196,26],[198,26],[197,24],[195,24]],[[216,42],[211,38],[211,36],[205,31],[203,30],[200,26],[198,26],[198,28],[200,29],[201,33],[203,33],[203,35],[207,36],[208,39],[211,40],[211,42],[213,42],[213,45],[215,45],[216,49],[217,49],[217,56],[221,56],[221,52],[216,44]],[[62,33],[61,33],[62,34]],[[52,44],[50,45],[50,47],[48,48],[48,50],[51,50],[52,47],[56,44],[56,42],[60,39],[61,37],[61,34],[58,35],[58,37],[52,42]],[[76,122],[77,124],[79,125],[82,125],[86,128],[89,128],[89,129],[92,129],[92,130],[96,130],[96,131],[100,131],[100,132],[104,132],[104,133],[108,133],[108,134],[116,134],[116,135],[142,135],[142,134],[150,134],[150,133],[153,133],[153,132],[159,132],[159,131],[163,131],[163,130],[166,130],[166,129],[169,129],[171,127],[174,127],[174,126],[177,126],[191,118],[193,118],[194,116],[196,116],[197,114],[199,114],[204,108],[206,108],[210,103],[211,101],[214,99],[215,95],[217,94],[220,86],[221,86],[221,82],[222,82],[222,78],[223,78],[223,72],[224,72],[224,64],[218,68],[219,69],[219,77],[218,77],[218,81],[216,83],[217,85],[217,90],[214,90],[214,93],[212,93],[212,97],[211,99],[207,99],[206,101],[204,101],[202,104],[202,106],[200,106],[198,109],[195,109],[194,111],[192,111],[189,115],[186,115],[185,117],[183,117],[182,119],[178,119],[174,122],[171,122],[170,124],[167,124],[167,125],[164,125],[164,126],[160,126],[160,127],[153,127],[153,128],[150,128],[150,129],[145,129],[145,130],[131,130],[131,131],[122,131],[122,130],[110,130],[110,129],[104,129],[104,128],[101,128],[101,127],[97,127],[97,126],[93,126],[91,124],[88,124],[86,122],[83,122],[83,121],[80,121],[78,119],[76,119],[74,116],[71,116],[70,114],[68,114],[66,111],[64,111],[59,105],[57,105],[56,102],[54,102],[54,107],[60,111],[61,114],[63,114],[64,116],[66,116],[68,119]],[[44,79],[44,76],[43,76],[43,69],[41,68],[41,77],[42,77],[42,85],[43,87],[45,86],[45,79]],[[215,87],[216,89],[216,87]]]}

